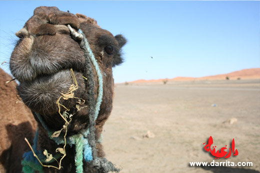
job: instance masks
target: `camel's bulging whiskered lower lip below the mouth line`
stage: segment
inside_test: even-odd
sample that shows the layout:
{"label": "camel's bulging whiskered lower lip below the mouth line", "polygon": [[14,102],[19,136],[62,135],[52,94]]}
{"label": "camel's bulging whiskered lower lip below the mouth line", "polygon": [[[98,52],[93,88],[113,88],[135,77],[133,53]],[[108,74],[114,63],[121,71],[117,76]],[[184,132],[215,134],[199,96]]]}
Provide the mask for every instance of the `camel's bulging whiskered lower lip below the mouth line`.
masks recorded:
{"label": "camel's bulging whiskered lower lip below the mouth line", "polygon": [[[64,111],[64,108],[58,109],[57,100],[62,94],[69,91],[70,86],[78,85],[78,89],[74,91],[74,97],[67,100],[60,100],[65,108],[71,109],[75,106],[76,101],[80,98],[86,100],[86,85],[82,72],[73,70],[74,79],[69,69],[62,69],[53,74],[38,75],[35,79],[20,82],[17,86],[17,92],[32,111],[41,115],[53,115],[58,111]],[[73,109],[71,109],[73,111]],[[61,112],[62,113],[62,112]]]}

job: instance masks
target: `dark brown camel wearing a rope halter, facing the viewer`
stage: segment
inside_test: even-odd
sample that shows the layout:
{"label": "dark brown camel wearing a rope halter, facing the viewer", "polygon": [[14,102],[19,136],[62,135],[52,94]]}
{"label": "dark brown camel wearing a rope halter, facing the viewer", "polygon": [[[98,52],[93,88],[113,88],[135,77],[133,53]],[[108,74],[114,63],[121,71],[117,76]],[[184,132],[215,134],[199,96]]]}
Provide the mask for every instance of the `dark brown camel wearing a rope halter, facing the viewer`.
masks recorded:
{"label": "dark brown camel wearing a rope halter, facing the viewer", "polygon": [[[19,127],[12,122],[1,123],[5,132],[7,126],[15,126],[18,131],[28,129],[21,138],[9,131],[2,136],[11,144],[10,151],[0,148],[1,159],[9,158],[1,160],[2,168],[6,172],[20,172],[21,168],[23,172],[44,173],[118,172],[104,159],[101,132],[112,110],[112,67],[123,62],[121,47],[126,39],[113,36],[83,14],[47,6],[35,8],[33,16],[15,34],[19,40],[9,68],[19,82],[18,98],[32,114],[26,108],[19,108],[24,109],[23,113],[9,105],[5,115],[0,115],[1,119],[7,116],[20,122]],[[14,103],[15,94],[7,93],[14,93],[15,84],[4,87],[6,92],[0,91],[6,94],[2,102]],[[13,112],[8,113],[9,109]],[[18,113],[23,114],[22,119]],[[21,158],[16,150],[27,153]]]}

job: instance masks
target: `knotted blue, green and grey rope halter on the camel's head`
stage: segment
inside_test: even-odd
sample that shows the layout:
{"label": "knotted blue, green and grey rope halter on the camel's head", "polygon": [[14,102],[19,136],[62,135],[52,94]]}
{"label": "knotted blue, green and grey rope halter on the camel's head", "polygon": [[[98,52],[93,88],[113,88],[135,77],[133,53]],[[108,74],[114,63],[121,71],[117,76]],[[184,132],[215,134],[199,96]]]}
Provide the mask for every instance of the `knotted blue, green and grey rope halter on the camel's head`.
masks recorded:
{"label": "knotted blue, green and grey rope halter on the camel's head", "polygon": [[[86,162],[91,162],[92,166],[100,170],[102,172],[119,172],[119,169],[116,169],[114,165],[111,162],[108,162],[104,158],[98,158],[96,154],[96,142],[95,142],[95,120],[98,116],[100,105],[102,102],[103,97],[103,79],[102,79],[102,73],[99,69],[98,63],[96,59],[94,58],[94,55],[92,53],[92,50],[90,48],[90,45],[87,42],[87,39],[84,35],[84,33],[79,29],[79,32],[76,32],[73,30],[70,25],[67,25],[72,38],[75,40],[80,40],[80,48],[84,52],[85,56],[85,75],[87,77],[87,102],[88,102],[88,112],[89,112],[89,126],[87,129],[81,130],[78,134],[72,135],[66,138],[66,144],[75,145],[75,166],[76,166],[76,173],[83,173],[83,159]],[[98,80],[98,95],[96,99],[96,103],[94,100],[94,77],[93,77],[93,71],[92,66],[93,65],[96,74],[97,74],[97,80]],[[47,131],[48,136],[50,139],[54,140],[57,145],[64,144],[64,139],[62,137],[52,138],[51,135],[54,133],[54,131],[51,131],[44,120],[42,119],[42,116],[35,113],[38,120],[40,121],[41,125],[44,127],[44,129]],[[34,146],[33,150],[37,151],[37,133],[34,137]],[[37,151],[37,153],[39,153]],[[22,161],[23,165],[23,172],[25,172],[25,168],[27,169],[27,166],[31,166],[31,162],[33,162],[31,158],[31,155],[33,156],[32,152],[27,152],[24,154],[24,160]],[[34,158],[35,159],[35,158]],[[35,161],[35,160],[34,160]],[[37,161],[36,161],[37,162]],[[31,167],[32,168],[32,167]],[[34,168],[32,168],[33,172],[38,171],[41,172],[42,168],[38,168],[38,165],[34,164]],[[33,173],[31,172],[31,173]]]}

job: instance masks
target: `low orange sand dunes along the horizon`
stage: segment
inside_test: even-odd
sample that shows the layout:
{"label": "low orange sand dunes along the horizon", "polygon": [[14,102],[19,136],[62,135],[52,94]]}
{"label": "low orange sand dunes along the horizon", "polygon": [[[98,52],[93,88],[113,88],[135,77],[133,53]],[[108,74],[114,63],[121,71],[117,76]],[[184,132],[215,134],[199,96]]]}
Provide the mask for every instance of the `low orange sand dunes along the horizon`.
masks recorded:
{"label": "low orange sand dunes along the horizon", "polygon": [[175,77],[172,79],[152,79],[152,80],[135,80],[130,83],[148,83],[148,82],[162,82],[163,80],[168,81],[191,81],[191,80],[225,80],[226,77],[229,79],[260,79],[260,68],[249,68],[239,71],[234,71],[227,74],[218,74],[214,76],[204,76],[204,77]]}

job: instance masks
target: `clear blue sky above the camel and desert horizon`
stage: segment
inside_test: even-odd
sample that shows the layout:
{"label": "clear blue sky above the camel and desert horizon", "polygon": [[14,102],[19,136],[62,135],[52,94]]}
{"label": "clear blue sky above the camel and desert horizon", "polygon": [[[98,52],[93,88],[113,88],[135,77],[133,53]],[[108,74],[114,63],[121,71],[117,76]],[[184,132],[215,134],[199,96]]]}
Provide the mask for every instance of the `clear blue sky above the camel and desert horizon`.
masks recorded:
{"label": "clear blue sky above the camel and desert horizon", "polygon": [[260,1],[0,1],[0,63],[40,5],[85,14],[127,38],[116,83],[260,67]]}

